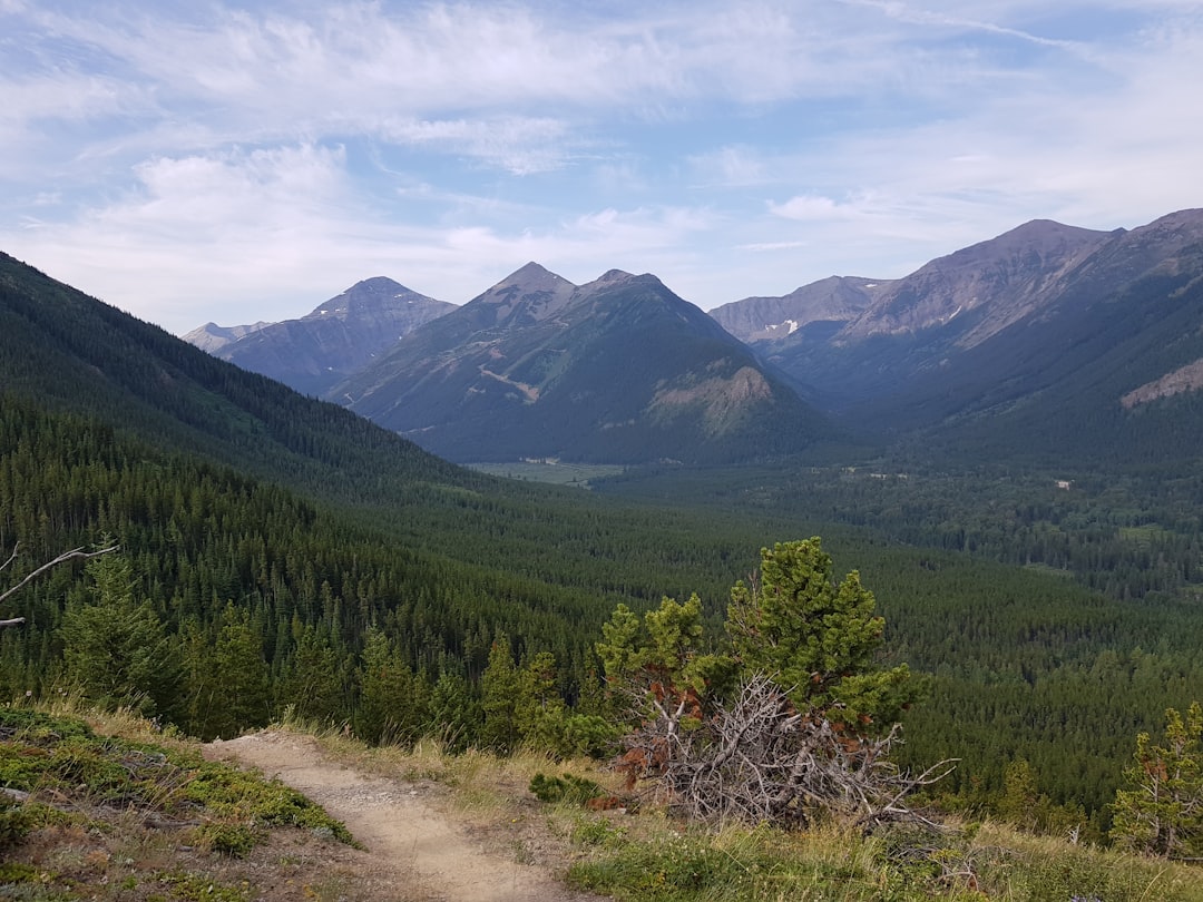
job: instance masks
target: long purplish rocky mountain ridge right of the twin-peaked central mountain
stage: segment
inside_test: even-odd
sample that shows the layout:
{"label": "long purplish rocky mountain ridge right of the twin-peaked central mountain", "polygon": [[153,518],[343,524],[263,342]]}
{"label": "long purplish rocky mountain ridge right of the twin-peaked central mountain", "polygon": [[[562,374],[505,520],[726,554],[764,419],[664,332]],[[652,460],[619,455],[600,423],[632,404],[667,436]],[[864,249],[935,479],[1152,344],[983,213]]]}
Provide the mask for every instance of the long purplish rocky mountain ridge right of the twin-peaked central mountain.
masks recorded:
{"label": "long purplish rocky mountain ridge right of the twin-peaked central mountain", "polygon": [[820,409],[929,452],[1192,457],[1203,210],[1112,232],[1033,220],[887,284],[837,328],[752,342]]}

